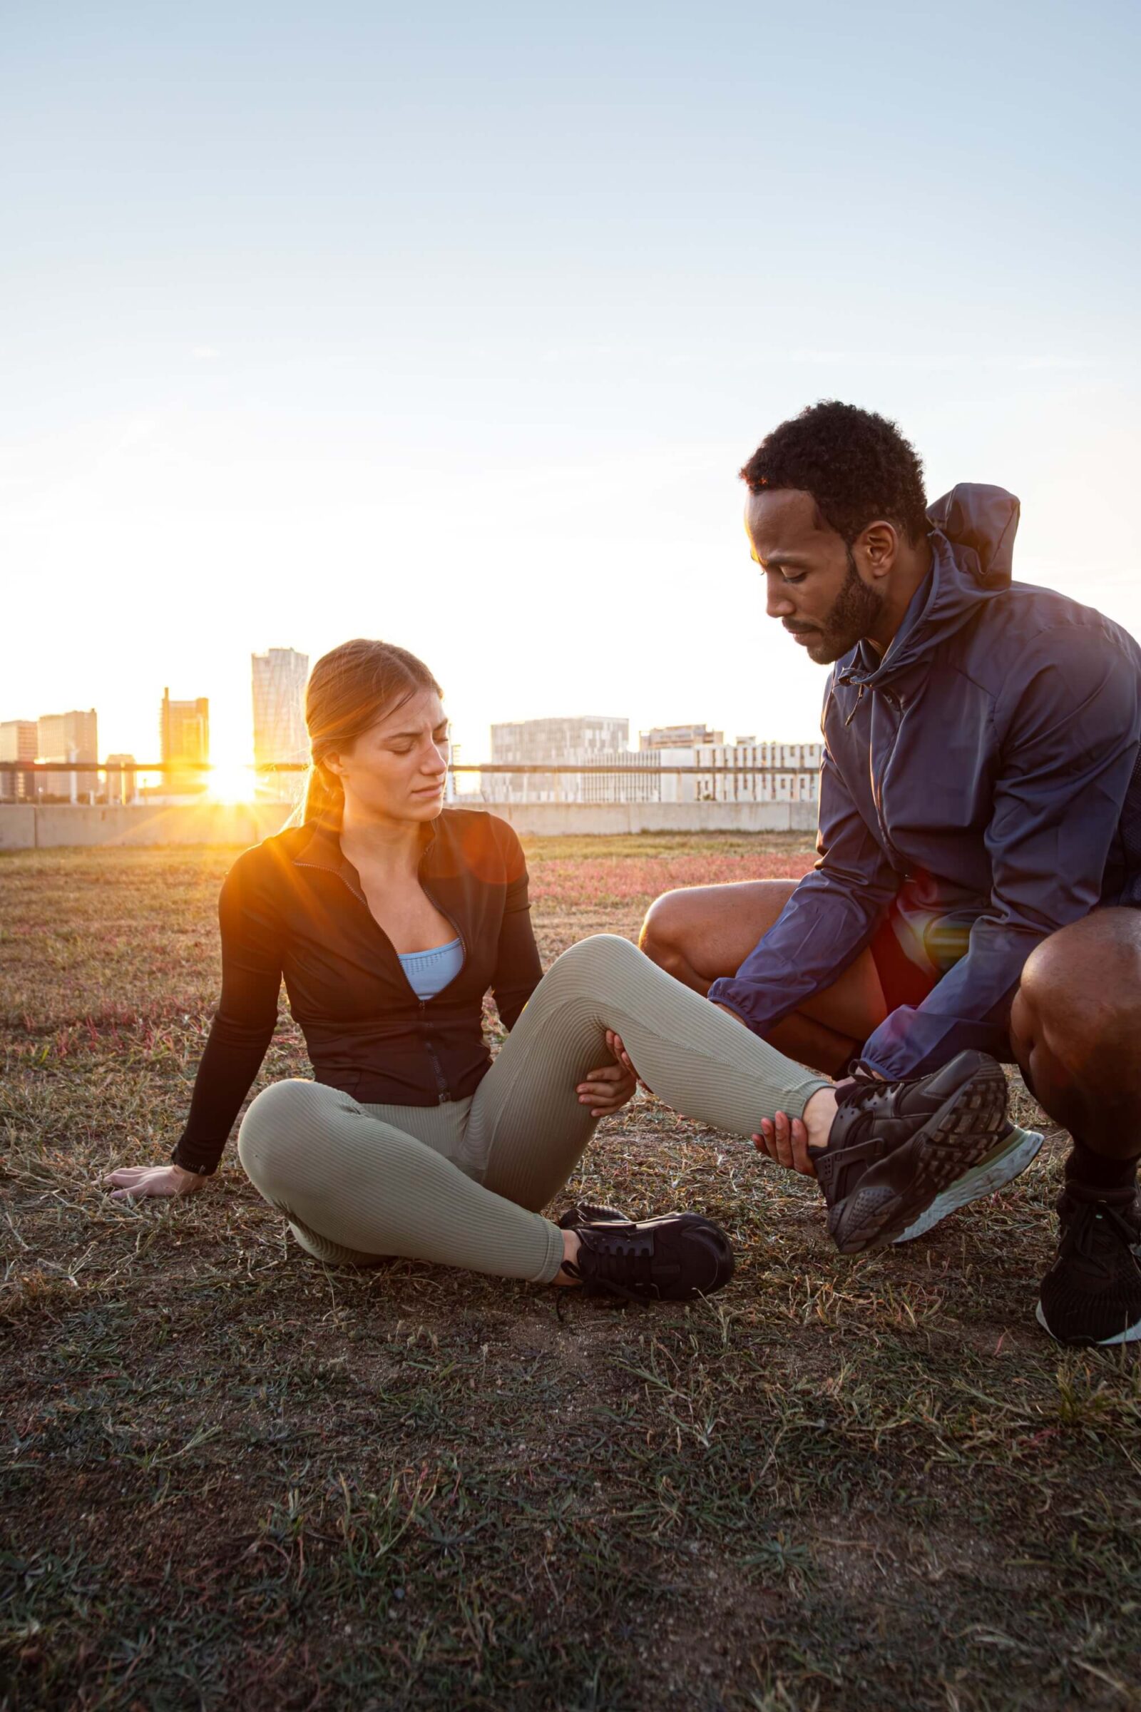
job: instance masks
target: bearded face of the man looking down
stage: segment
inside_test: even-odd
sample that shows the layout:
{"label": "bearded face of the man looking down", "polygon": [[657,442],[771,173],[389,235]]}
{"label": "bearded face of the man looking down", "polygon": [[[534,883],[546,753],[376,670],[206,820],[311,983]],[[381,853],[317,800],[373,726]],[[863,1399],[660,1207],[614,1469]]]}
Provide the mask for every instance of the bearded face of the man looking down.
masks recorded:
{"label": "bearded face of the man looking down", "polygon": [[811,493],[751,493],[744,524],[765,572],[768,616],[780,618],[811,661],[830,666],[872,632],[883,594],[864,582],[852,548],[823,522]]}

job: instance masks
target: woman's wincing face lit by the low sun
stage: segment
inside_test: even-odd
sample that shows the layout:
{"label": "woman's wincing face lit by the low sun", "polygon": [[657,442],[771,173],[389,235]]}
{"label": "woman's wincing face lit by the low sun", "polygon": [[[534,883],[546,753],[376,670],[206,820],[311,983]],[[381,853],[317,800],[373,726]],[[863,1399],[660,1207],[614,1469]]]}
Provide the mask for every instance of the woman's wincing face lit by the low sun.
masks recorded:
{"label": "woman's wincing face lit by the low sun", "polygon": [[435,820],[448,777],[448,721],[440,697],[419,690],[325,764],[340,777],[354,818]]}

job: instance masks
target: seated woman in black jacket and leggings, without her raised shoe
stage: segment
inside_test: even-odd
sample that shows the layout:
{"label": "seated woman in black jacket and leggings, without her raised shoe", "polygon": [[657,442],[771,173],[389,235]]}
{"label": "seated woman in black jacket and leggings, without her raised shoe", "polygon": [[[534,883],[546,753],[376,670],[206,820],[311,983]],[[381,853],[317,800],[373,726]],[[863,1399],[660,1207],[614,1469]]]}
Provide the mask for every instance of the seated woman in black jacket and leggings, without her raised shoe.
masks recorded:
{"label": "seated woman in black jacket and leggings, without her raised shoe", "polygon": [[[412,654],[364,640],[325,654],[306,724],[301,823],[245,851],[222,885],[221,1003],[173,1162],[106,1183],[118,1198],[205,1188],[284,976],[315,1080],[263,1089],[238,1157],[308,1253],[645,1299],[720,1289],[732,1251],[698,1214],[631,1222],[580,1205],[556,1224],[541,1209],[631,1097],[631,1060],[677,1111],[741,1137],[790,1113],[825,1144],[830,1084],[614,935],[542,974],[518,839],[496,815],[445,808],[448,726]],[[489,990],[511,1031],[494,1063]]]}

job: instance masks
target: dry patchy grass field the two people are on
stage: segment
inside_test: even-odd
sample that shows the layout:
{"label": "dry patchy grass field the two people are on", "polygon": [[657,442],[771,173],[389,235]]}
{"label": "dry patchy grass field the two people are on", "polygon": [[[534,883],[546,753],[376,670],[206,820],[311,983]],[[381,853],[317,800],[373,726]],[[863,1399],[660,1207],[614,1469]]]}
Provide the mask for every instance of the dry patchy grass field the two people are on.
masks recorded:
{"label": "dry patchy grass field the two people are on", "polygon": [[[809,863],[530,858],[544,957]],[[1059,1138],[842,1260],[813,1185],[640,1096],[571,1193],[717,1217],[737,1277],[691,1310],[322,1269],[233,1145],[111,1205],[181,1126],[231,859],[0,858],[3,1709],[1141,1705],[1141,1370],[1033,1323]],[[286,1019],[262,1082],[299,1073]]]}

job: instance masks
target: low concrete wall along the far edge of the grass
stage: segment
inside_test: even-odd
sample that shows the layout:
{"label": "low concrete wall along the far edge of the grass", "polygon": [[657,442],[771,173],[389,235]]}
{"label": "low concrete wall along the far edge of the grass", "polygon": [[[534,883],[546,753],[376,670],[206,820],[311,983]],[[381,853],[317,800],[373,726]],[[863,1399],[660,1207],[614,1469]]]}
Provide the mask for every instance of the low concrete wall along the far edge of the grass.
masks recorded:
{"label": "low concrete wall along the far edge of the grass", "polygon": [[[484,805],[481,805],[484,806]],[[804,832],[816,803],[489,803],[522,834]],[[0,803],[0,851],[121,844],[257,844],[281,832],[287,803],[202,803],[178,808]]]}

